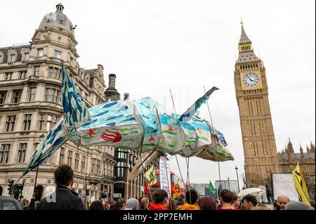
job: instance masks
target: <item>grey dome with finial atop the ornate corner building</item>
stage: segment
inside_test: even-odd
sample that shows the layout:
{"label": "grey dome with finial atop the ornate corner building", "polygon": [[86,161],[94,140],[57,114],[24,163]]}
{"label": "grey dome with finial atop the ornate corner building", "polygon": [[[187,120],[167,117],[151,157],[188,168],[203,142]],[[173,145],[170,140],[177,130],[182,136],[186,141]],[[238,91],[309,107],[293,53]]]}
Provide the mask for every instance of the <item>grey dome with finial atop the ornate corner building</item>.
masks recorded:
{"label": "grey dome with finial atop the ornate corner building", "polygon": [[58,3],[56,5],[55,13],[47,13],[46,15],[44,15],[44,18],[43,20],[41,20],[41,24],[39,25],[39,27],[55,25],[57,27],[66,29],[74,34],[74,26],[72,25],[72,22],[67,18],[67,15],[62,13],[62,10],[64,8],[65,7],[61,3]]}

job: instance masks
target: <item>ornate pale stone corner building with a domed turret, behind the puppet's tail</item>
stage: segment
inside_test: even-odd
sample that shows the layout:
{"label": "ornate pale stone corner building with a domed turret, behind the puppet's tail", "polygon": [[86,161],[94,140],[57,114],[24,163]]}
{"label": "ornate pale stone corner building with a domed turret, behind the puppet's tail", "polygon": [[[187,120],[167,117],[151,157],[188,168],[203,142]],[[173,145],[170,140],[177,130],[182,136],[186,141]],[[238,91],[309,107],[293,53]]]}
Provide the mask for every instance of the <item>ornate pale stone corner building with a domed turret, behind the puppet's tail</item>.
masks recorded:
{"label": "ornate pale stone corner building with a domed turret, behind the puppet's tail", "polygon": [[[58,4],[55,12],[44,16],[29,44],[0,48],[0,195],[8,195],[10,180],[18,179],[41,138],[63,116],[62,62],[88,107],[105,102],[103,66],[79,67],[75,27],[63,9]],[[15,190],[24,181],[22,196],[31,199],[35,192],[41,199],[53,190],[53,172],[60,164],[74,169],[73,190],[83,200],[89,201],[86,187],[89,197],[96,199],[100,192],[112,192],[114,148],[77,147],[70,141],[39,166],[37,178],[35,169],[16,183]]]}

